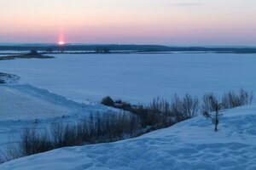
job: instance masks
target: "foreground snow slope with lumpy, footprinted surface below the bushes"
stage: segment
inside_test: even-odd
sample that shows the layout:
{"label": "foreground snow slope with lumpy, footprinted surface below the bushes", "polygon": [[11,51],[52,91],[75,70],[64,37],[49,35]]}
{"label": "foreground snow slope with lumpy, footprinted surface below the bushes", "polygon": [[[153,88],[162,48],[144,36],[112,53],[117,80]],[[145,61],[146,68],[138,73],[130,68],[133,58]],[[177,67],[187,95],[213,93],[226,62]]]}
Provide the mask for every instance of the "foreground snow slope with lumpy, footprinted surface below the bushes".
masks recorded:
{"label": "foreground snow slope with lumpy, footprinted surface below the bushes", "polygon": [[136,139],[52,150],[0,169],[256,169],[256,106],[222,113],[218,133],[199,116]]}

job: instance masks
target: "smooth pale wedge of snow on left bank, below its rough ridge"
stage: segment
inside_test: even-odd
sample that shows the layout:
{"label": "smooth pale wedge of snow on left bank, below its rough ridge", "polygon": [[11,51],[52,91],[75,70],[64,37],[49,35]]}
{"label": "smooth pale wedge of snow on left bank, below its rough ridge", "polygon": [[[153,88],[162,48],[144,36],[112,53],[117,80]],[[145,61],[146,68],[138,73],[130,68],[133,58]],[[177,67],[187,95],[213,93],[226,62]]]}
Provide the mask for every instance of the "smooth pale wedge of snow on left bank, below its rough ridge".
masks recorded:
{"label": "smooth pale wedge of snow on left bank, below its rough ridge", "polygon": [[0,88],[1,121],[42,119],[72,112],[66,105],[56,105],[8,86]]}

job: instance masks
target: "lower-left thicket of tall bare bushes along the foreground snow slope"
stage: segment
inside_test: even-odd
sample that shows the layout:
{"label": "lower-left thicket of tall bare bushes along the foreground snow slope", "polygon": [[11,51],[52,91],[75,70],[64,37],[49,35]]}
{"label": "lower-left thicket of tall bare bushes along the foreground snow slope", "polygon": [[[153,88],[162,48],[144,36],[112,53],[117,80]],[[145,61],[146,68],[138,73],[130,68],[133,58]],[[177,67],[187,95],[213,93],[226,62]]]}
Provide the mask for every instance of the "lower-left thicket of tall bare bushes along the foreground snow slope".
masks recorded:
{"label": "lower-left thicket of tall bare bushes along the foreground snow slope", "polygon": [[76,123],[57,122],[48,130],[38,126],[23,130],[19,143],[9,144],[3,161],[30,156],[66,146],[113,142],[137,136],[140,120],[125,112],[91,113]]}

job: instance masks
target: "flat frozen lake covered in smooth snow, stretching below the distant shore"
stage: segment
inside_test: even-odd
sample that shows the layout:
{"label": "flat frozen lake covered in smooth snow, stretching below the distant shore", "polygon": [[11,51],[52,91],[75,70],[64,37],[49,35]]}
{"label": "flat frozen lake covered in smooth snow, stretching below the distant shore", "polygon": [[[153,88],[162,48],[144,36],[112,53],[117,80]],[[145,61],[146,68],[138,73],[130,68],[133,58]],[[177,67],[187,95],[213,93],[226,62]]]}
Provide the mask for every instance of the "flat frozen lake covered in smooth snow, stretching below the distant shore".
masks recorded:
{"label": "flat frozen lake covered in smooth snow, stretching below the distant shore", "polygon": [[55,54],[0,61],[0,72],[79,102],[103,96],[148,103],[186,92],[256,90],[255,54]]}

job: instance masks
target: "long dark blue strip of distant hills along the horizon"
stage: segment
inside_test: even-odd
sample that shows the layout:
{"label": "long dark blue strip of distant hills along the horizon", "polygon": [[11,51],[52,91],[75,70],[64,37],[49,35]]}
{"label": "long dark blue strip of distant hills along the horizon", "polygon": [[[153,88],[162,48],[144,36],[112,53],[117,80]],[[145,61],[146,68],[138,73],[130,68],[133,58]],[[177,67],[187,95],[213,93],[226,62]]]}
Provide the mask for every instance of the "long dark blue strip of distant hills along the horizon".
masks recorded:
{"label": "long dark blue strip of distant hills along the horizon", "polygon": [[131,51],[131,52],[216,52],[256,53],[256,48],[247,47],[168,47],[163,45],[86,45],[86,44],[0,44],[0,51]]}

